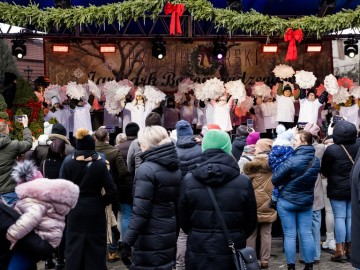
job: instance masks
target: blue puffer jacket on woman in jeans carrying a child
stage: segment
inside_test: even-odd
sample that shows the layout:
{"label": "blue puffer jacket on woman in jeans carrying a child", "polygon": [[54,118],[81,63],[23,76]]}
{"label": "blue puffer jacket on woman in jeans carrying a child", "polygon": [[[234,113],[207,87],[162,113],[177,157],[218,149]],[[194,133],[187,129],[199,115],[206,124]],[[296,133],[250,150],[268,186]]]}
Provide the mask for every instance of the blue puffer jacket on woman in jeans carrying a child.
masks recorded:
{"label": "blue puffer jacket on woman in jeans carrying a child", "polygon": [[[312,165],[307,168],[311,162]],[[320,161],[315,157],[315,148],[311,145],[302,145],[277,168],[273,173],[272,182],[274,186],[284,185],[279,198],[304,207],[312,206],[319,171]]]}

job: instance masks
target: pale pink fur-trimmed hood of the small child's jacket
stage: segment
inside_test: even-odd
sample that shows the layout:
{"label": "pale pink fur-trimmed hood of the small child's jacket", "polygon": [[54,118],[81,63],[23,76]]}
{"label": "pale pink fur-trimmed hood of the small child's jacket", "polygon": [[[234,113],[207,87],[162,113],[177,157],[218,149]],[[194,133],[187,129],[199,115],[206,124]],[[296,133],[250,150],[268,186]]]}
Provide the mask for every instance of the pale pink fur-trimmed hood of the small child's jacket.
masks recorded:
{"label": "pale pink fur-trimmed hood of the small child's jacket", "polygon": [[74,208],[79,198],[79,187],[65,179],[38,178],[18,185],[15,192],[20,199],[34,198],[54,204],[56,210],[58,204]]}

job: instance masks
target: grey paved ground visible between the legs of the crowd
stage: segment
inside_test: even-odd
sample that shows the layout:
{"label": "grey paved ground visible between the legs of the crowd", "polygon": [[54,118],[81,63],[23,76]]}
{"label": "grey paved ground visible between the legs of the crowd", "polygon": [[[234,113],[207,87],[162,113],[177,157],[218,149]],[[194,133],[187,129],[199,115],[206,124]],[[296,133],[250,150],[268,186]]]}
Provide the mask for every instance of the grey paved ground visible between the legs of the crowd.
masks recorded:
{"label": "grey paved ground visible between the legs of the crowd", "polygon": [[[298,254],[297,254],[298,255]],[[321,252],[321,259],[318,265],[314,266],[314,270],[349,270],[354,269],[350,263],[334,263],[330,260],[331,254],[325,251]],[[298,258],[299,259],[299,258]],[[271,258],[269,262],[269,270],[276,270],[282,269],[287,270],[287,265],[285,262],[285,254],[283,253],[283,245],[282,245],[282,238],[273,238],[272,241],[272,252]],[[108,263],[109,270],[125,270],[127,269],[121,261],[115,263]],[[304,266],[297,263],[297,269],[303,269]],[[38,269],[44,269],[44,262],[40,262],[38,264]],[[76,270],[76,269],[74,269]],[[206,270],[206,269],[204,269]],[[226,270],[226,269],[224,269]]]}

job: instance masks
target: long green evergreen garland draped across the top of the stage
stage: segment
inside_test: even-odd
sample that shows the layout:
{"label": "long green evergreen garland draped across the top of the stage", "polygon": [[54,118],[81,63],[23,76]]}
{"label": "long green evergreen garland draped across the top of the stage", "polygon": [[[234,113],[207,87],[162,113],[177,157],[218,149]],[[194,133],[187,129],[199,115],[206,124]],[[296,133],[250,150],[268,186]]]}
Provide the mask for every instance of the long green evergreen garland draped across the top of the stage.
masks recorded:
{"label": "long green evergreen garland draped across the top of the stage", "polygon": [[157,18],[166,2],[184,4],[195,20],[212,21],[217,28],[222,27],[229,34],[241,30],[249,34],[282,36],[287,28],[301,28],[306,35],[320,38],[331,32],[360,27],[360,6],[355,10],[342,10],[321,18],[311,15],[283,19],[255,10],[239,13],[230,9],[214,8],[208,0],[128,0],[103,6],[75,6],[68,9],[40,9],[34,4],[21,6],[0,2],[0,21],[22,27],[33,25],[43,31],[52,27],[72,28],[80,24],[104,25],[118,22],[123,25],[130,19]]}

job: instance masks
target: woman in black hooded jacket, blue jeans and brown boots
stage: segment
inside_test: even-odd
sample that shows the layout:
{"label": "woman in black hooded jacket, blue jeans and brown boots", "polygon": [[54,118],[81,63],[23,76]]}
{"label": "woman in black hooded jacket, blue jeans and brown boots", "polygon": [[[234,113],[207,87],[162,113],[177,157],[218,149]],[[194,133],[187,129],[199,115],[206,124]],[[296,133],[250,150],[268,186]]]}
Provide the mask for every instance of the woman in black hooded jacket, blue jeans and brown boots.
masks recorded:
{"label": "woman in black hooded jacket, blue jeans and brown boots", "polygon": [[328,179],[327,195],[334,212],[336,252],[331,260],[342,262],[351,256],[351,170],[360,146],[356,126],[337,122],[333,140],[323,155],[321,174]]}

